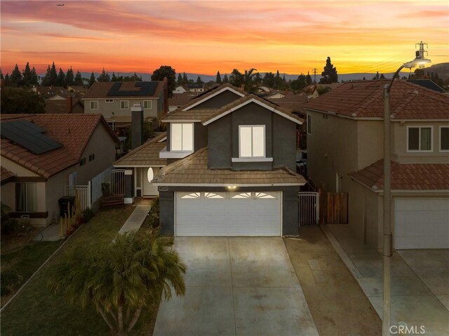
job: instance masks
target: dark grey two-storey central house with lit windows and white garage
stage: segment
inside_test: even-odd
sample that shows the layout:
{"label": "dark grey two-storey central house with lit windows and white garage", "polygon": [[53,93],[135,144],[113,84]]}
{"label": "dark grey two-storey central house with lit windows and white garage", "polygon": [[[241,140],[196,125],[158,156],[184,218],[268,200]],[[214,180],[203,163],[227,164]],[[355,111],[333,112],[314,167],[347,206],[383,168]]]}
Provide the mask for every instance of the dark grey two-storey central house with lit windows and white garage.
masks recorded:
{"label": "dark grey two-storey central house with lit windows and white garage", "polygon": [[295,140],[302,119],[225,84],[162,121],[167,139],[159,158],[168,165],[152,183],[163,234],[298,234],[297,192],[306,181],[295,173]]}

